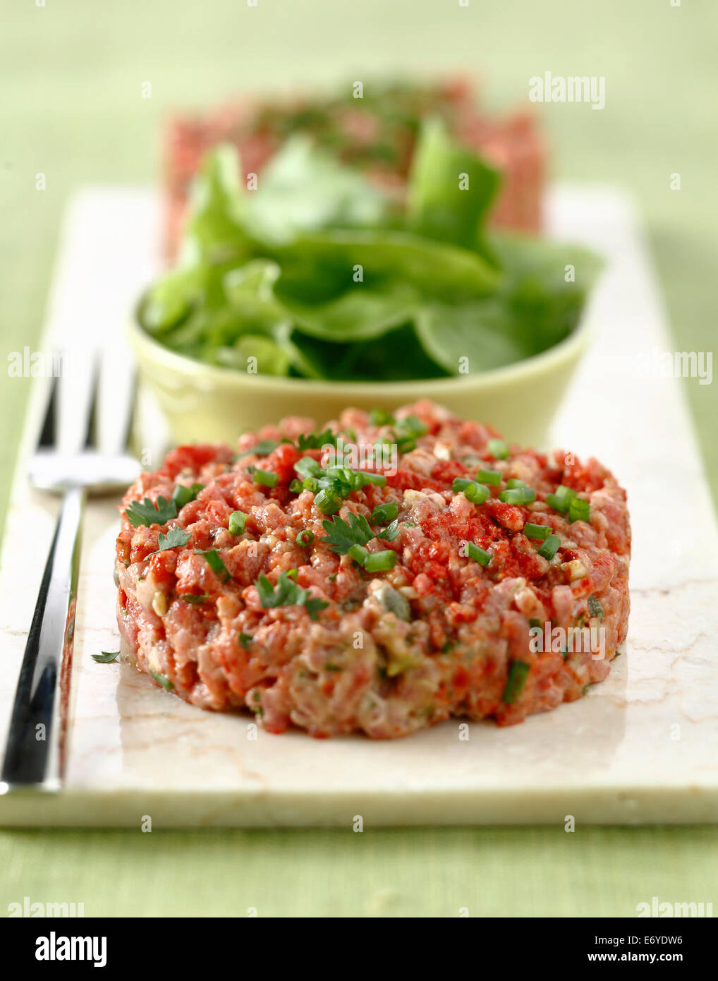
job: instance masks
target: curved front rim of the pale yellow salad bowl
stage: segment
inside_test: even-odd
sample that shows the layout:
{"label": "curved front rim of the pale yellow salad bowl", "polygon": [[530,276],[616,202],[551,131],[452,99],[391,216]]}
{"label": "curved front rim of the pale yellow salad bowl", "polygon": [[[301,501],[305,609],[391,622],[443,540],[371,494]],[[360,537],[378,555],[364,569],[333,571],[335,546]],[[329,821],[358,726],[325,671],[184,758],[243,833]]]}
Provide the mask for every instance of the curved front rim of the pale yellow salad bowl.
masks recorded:
{"label": "curved front rim of the pale yellow salad bowl", "polygon": [[585,306],[578,324],[569,336],[530,358],[522,358],[520,361],[503,365],[500,368],[491,368],[488,371],[470,375],[396,382],[333,382],[325,379],[286,378],[279,375],[245,375],[234,368],[206,364],[203,361],[197,361],[185,354],[173,351],[145,331],[139,323],[138,308],[136,307],[129,318],[127,334],[140,369],[143,361],[148,360],[148,355],[149,360],[169,371],[183,375],[185,378],[196,379],[201,377],[205,383],[212,383],[213,387],[228,390],[254,388],[256,391],[274,389],[283,390],[287,394],[294,393],[297,396],[301,396],[303,391],[311,387],[313,392],[325,393],[328,396],[339,391],[342,394],[346,393],[347,404],[350,404],[352,394],[361,396],[365,393],[376,392],[378,394],[390,394],[392,397],[402,394],[409,397],[410,392],[421,389],[422,396],[427,398],[436,396],[438,398],[448,388],[456,391],[457,389],[503,387],[512,382],[528,381],[532,377],[550,371],[552,367],[565,366],[567,363],[577,360],[589,343],[592,335],[590,317],[587,316],[589,306],[590,303]]}

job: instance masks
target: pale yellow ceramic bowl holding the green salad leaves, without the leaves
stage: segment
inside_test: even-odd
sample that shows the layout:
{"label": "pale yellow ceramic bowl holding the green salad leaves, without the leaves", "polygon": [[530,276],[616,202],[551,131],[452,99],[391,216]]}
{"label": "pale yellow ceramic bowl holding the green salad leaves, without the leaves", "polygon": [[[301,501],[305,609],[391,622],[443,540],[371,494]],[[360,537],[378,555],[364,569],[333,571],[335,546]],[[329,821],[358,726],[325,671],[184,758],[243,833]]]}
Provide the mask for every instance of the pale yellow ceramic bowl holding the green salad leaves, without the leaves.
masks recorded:
{"label": "pale yellow ceramic bowl holding the green salad leaves, without the leaves", "polygon": [[176,354],[136,321],[129,340],[140,379],[156,396],[177,442],[233,443],[282,416],[335,419],[347,406],[395,409],[431,398],[464,419],[488,423],[506,439],[541,445],[588,342],[586,318],[541,354],[478,375],[419,382],[317,382],[245,375]]}

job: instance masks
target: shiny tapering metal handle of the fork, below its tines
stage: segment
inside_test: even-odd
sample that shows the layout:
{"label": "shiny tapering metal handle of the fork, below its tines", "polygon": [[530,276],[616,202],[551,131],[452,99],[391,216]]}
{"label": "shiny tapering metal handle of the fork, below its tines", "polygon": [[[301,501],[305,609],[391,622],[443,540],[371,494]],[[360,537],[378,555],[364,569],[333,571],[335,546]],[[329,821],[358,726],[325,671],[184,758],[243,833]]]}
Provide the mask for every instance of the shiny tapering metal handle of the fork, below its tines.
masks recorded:
{"label": "shiny tapering metal handle of the fork, below its tines", "polygon": [[84,490],[66,490],[32,616],[3,761],[3,791],[60,789]]}

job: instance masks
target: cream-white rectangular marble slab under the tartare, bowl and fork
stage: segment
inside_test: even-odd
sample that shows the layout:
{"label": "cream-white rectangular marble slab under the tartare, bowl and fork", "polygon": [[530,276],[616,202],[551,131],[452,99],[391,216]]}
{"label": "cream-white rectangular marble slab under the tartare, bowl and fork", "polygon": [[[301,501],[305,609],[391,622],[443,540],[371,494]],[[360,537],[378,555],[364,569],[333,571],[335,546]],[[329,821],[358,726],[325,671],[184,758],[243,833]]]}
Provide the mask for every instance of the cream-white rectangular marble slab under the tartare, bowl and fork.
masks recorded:
{"label": "cream-white rectangular marble slab under the tartare, bowl and fork", "polygon": [[[461,720],[385,743],[257,732],[250,718],[203,712],[127,665],[91,660],[118,647],[117,502],[93,501],[83,531],[67,785],[56,795],[0,798],[0,823],[136,827],[144,815],[154,827],[347,826],[357,815],[365,827],[558,823],[569,814],[590,823],[716,818],[718,536],[682,383],[644,370],[669,346],[658,289],[631,203],[617,191],[558,187],[548,221],[551,233],[608,259],[591,305],[595,336],[551,444],[597,456],[629,492],[631,623],[609,678],[522,725],[472,723],[468,740],[460,739]],[[101,324],[113,357],[122,358],[115,338],[155,268],[157,228],[151,193],[83,191],[63,238],[53,325],[77,339],[78,330]],[[26,487],[29,428],[0,578],[2,732],[55,514],[54,502]]]}

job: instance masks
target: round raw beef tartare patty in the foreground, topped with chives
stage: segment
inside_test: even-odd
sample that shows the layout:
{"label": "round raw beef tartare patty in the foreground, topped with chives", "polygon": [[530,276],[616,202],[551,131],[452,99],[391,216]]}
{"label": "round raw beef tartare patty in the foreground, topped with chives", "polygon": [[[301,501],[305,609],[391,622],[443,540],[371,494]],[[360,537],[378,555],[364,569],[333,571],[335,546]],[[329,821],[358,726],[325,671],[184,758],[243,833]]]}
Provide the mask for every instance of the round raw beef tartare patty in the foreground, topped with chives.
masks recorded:
{"label": "round raw beef tartare patty in the foreground, topped with chives", "polygon": [[428,401],[321,431],[287,418],[236,452],[180,446],[122,512],[137,666],[275,733],[521,722],[605,678],[626,636],[631,532],[610,472]]}

